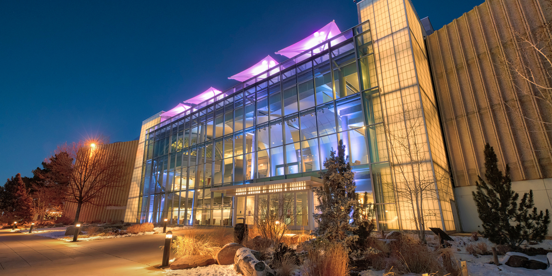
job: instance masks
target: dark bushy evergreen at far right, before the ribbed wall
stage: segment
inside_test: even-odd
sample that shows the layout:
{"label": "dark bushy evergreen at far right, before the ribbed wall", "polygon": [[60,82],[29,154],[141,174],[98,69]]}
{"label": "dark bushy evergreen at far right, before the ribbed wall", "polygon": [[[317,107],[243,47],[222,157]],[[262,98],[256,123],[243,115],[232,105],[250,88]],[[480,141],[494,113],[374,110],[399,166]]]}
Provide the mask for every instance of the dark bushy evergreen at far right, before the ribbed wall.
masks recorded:
{"label": "dark bushy evergreen at far right, before the ribbed wall", "polygon": [[476,191],[472,192],[479,219],[481,235],[497,245],[519,248],[523,241],[540,242],[548,232],[550,214],[546,209],[537,212],[533,202],[533,190],[524,193],[518,205],[519,194],[512,190],[509,167],[506,173],[498,169],[495,151],[485,145],[485,179],[478,176]]}

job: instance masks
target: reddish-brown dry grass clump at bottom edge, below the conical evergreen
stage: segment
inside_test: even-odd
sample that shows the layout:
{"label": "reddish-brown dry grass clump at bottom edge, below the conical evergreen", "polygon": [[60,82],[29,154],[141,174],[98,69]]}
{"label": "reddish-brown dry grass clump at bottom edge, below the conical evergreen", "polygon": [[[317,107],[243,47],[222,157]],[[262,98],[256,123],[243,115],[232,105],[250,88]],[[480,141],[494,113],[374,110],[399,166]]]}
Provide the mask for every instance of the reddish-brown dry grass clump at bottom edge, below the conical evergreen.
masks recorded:
{"label": "reddish-brown dry grass clump at bottom edge, below the conical evergreen", "polygon": [[308,258],[303,266],[306,276],[346,276],[349,275],[349,254],[339,243],[310,247]]}

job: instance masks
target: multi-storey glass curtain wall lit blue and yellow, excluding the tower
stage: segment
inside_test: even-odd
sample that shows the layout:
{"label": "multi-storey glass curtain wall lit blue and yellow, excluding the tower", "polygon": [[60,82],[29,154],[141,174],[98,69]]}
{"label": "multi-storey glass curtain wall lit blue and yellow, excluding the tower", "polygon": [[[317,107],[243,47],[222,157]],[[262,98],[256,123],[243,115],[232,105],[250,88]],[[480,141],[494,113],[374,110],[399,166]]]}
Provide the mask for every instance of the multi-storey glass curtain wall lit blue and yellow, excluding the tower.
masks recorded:
{"label": "multi-storey glass curtain wall lit blue and yellow, excluding the tower", "polygon": [[340,139],[357,192],[373,203],[371,168],[388,158],[369,29],[344,31],[267,75],[147,131],[141,222],[229,225],[250,199],[211,188],[319,177]]}

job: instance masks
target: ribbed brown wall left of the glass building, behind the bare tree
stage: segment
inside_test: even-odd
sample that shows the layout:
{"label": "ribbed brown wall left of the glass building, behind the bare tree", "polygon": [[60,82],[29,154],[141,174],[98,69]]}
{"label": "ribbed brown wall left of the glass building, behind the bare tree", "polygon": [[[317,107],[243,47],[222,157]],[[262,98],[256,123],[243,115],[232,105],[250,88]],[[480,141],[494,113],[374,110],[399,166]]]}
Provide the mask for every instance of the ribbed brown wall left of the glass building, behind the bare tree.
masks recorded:
{"label": "ribbed brown wall left of the glass building, behind the bare tree", "polygon": [[[138,141],[102,145],[99,148],[99,150],[112,151],[121,156],[124,160],[124,167],[120,173],[123,173],[124,177],[119,183],[120,187],[108,188],[103,192],[102,198],[97,201],[98,206],[83,204],[79,221],[118,222],[124,219],[137,148]],[[66,202],[63,213],[68,217],[75,217],[76,209],[76,203]]]}

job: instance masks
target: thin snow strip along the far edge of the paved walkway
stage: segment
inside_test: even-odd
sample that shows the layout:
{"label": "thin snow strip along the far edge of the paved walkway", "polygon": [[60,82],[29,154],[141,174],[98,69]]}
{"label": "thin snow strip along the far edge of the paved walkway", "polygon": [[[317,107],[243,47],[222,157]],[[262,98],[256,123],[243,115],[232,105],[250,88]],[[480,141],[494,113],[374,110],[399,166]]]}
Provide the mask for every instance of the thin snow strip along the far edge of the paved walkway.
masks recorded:
{"label": "thin snow strip along the far edge of the paved walkway", "polygon": [[[183,230],[188,229],[191,226],[177,226],[177,227],[167,227],[167,231],[177,231],[177,230]],[[26,235],[38,235],[43,237],[49,237],[49,238],[56,238],[57,240],[61,241],[72,241],[73,235],[71,236],[65,236],[65,230],[66,227],[54,227],[54,228],[39,228],[39,229],[33,229],[32,233],[29,233],[28,229],[19,230],[20,233],[24,233]],[[143,232],[143,233],[137,233],[137,234],[125,234],[125,235],[116,235],[116,236],[94,236],[94,237],[79,237],[79,241],[94,241],[94,240],[105,240],[107,238],[122,238],[122,237],[133,237],[133,236],[144,236],[144,235],[153,235],[155,233],[161,233],[163,232],[163,227],[155,227],[152,232]],[[83,232],[86,235],[86,232]]]}

